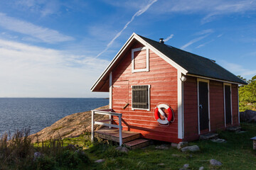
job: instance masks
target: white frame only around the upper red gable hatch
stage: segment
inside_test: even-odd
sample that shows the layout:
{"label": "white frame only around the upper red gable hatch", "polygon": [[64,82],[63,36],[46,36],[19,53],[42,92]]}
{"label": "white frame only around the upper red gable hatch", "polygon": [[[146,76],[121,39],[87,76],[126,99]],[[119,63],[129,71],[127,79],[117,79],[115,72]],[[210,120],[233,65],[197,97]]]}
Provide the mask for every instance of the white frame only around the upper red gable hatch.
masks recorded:
{"label": "white frame only around the upper red gable hatch", "polygon": [[[144,69],[134,69],[134,52],[146,50],[146,68]],[[134,72],[149,72],[149,48],[139,47],[132,49],[132,73]]]}

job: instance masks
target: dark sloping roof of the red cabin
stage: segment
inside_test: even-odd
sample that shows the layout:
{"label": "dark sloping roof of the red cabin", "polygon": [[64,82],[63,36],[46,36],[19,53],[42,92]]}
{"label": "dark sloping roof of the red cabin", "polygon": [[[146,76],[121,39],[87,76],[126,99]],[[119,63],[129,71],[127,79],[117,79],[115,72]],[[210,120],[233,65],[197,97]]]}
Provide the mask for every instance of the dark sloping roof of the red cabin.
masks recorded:
{"label": "dark sloping roof of the red cabin", "polygon": [[166,57],[176,62],[179,66],[183,67],[183,69],[186,69],[188,74],[247,84],[245,81],[242,81],[242,79],[239,79],[234,74],[228,72],[228,70],[220,67],[220,65],[206,57],[194,55],[191,52],[186,52],[176,47],[144,38],[141,35],[139,35],[139,37],[155,47],[156,50],[166,55]]}

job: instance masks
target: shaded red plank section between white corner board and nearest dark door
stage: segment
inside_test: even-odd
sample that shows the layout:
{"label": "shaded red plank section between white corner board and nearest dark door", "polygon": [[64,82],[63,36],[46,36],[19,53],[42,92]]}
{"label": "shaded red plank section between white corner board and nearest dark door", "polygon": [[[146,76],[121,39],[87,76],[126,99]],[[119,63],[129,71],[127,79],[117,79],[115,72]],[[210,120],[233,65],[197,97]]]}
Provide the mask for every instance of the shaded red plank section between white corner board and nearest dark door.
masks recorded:
{"label": "shaded red plank section between white corner board and nearest dark door", "polygon": [[186,77],[183,82],[184,141],[198,139],[197,79]]}

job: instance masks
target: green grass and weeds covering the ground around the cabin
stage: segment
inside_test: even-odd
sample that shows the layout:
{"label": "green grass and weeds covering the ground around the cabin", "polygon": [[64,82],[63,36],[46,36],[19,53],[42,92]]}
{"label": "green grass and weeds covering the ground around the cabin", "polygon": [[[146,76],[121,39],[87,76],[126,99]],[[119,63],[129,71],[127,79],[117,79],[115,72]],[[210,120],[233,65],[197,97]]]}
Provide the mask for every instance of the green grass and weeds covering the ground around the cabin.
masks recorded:
{"label": "green grass and weeds covering the ground around the cabin", "polygon": [[[122,153],[115,149],[117,144],[112,142],[100,140],[92,144],[88,132],[80,137],[49,140],[36,145],[31,145],[24,135],[16,135],[17,140],[11,145],[5,136],[0,141],[0,169],[180,169],[183,164],[189,164],[189,169],[201,166],[205,169],[256,169],[256,151],[252,150],[250,140],[256,136],[256,124],[241,123],[241,126],[246,132],[219,132],[219,137],[227,140],[226,143],[206,140],[190,142],[189,145],[201,148],[196,153],[183,153],[172,147],[155,149],[161,142]],[[79,152],[67,147],[70,144],[75,145]],[[17,146],[23,149],[11,151]],[[33,161],[34,152],[41,152],[44,157]],[[3,153],[4,157],[1,156]],[[95,163],[97,159],[105,159],[105,162]],[[210,159],[217,159],[223,166],[210,166]]]}

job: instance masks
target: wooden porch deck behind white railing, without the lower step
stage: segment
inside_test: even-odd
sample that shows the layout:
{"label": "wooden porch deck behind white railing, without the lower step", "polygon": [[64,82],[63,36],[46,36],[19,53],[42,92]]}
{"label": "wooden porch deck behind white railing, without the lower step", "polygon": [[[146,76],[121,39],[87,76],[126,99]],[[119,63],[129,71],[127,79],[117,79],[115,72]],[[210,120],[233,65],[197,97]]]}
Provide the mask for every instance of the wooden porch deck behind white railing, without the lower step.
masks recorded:
{"label": "wooden porch deck behind white railing, without the lower step", "polygon": [[[138,132],[131,132],[122,130],[122,142],[129,142],[136,140],[141,136]],[[119,142],[119,130],[118,129],[102,129],[95,131],[95,137],[100,137],[105,140],[111,140],[114,142]]]}

